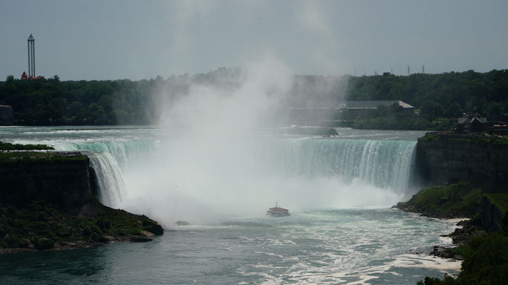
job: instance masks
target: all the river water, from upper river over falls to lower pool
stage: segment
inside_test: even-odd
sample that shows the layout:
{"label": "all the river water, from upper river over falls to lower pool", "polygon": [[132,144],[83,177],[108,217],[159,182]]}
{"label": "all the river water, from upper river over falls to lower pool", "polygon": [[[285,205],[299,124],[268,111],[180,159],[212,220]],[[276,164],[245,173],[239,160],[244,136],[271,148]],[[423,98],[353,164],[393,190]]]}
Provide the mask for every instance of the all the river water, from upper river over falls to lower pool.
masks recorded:
{"label": "all the river water, from upper river over falls to lower pool", "polygon": [[[262,133],[0,128],[4,142],[86,150],[105,204],[166,227],[153,242],[1,255],[0,284],[416,284],[459,269],[427,255],[457,221],[390,208],[415,191],[422,132]],[[290,217],[265,215],[275,200]]]}

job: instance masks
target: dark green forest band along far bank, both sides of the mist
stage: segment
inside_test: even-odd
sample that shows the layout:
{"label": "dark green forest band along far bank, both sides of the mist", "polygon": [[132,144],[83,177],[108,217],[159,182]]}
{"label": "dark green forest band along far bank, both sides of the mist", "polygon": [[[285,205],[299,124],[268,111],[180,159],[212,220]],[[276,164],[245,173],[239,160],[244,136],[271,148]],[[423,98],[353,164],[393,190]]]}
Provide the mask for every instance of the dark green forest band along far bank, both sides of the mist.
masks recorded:
{"label": "dark green forest band along far bank, both sides of the mist", "polygon": [[[171,105],[195,84],[238,88],[241,68],[141,81],[60,81],[53,78],[0,81],[0,105],[12,105],[16,125],[148,125],[158,123],[158,103]],[[344,100],[402,100],[417,112],[380,106],[359,118],[335,115],[352,128],[447,130],[456,118],[474,112],[485,117],[508,113],[508,70],[410,76],[293,76],[287,108],[332,106]]]}

